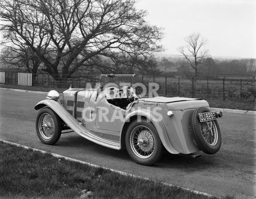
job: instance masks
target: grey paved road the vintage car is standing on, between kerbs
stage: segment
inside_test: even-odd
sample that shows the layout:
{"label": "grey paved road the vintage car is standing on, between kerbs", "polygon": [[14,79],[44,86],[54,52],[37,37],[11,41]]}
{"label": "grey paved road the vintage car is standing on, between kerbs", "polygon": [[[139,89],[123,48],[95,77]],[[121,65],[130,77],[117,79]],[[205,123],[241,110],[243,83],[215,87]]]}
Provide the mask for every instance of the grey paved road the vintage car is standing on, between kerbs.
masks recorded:
{"label": "grey paved road the vintage car is standing on, between kerbs", "polygon": [[35,131],[35,104],[46,94],[0,90],[0,139],[65,155],[218,196],[255,198],[255,115],[228,114],[219,119],[222,147],[197,159],[164,154],[151,167],[134,163],[125,151],[98,146],[75,133],[62,134],[54,146],[41,143]]}

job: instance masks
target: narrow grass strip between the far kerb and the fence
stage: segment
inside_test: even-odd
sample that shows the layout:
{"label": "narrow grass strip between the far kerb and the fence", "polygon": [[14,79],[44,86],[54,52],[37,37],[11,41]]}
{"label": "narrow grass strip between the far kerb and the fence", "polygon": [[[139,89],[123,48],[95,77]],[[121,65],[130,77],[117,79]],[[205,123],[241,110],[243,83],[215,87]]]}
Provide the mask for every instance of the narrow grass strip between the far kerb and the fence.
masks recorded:
{"label": "narrow grass strip between the far kerb and the fence", "polygon": [[[45,87],[27,87],[18,85],[6,85],[0,84],[0,88],[10,88],[10,89],[22,89],[22,90],[34,90],[40,92],[49,92],[51,89],[57,90],[57,92],[62,93],[67,88],[45,88]],[[255,102],[253,101],[223,101],[217,99],[207,99],[210,107],[221,108],[221,109],[238,109],[238,110],[251,110],[256,111]]]}

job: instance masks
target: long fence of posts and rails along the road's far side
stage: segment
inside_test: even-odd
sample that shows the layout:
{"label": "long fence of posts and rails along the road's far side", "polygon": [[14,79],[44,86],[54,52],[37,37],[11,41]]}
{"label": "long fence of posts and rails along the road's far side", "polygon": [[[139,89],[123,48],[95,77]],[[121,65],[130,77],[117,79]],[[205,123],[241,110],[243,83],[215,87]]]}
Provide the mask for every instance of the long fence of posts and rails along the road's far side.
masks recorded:
{"label": "long fence of posts and rails along the road's far side", "polygon": [[[28,73],[27,73],[28,74]],[[26,76],[26,75],[25,75]],[[24,77],[24,75],[23,75]],[[57,81],[57,78],[49,74],[29,74],[31,78],[23,78],[31,81],[27,86],[43,86],[48,88],[95,88],[100,81],[98,76],[77,75],[65,81]],[[14,72],[0,72],[0,84],[20,85],[20,75]],[[193,97],[204,99],[222,99],[233,101],[255,101],[255,81],[246,78],[173,78],[136,76],[135,84],[138,87],[144,85],[146,95],[155,90],[159,96],[166,97]],[[139,84],[138,84],[139,83]],[[143,86],[141,86],[143,87]]]}

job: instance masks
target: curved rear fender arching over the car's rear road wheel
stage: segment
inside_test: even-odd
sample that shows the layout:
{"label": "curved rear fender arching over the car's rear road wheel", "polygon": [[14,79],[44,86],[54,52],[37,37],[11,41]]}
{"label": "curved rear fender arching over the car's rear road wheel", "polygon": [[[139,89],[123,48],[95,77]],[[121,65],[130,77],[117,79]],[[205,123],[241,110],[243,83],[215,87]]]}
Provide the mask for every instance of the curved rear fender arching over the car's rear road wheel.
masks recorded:
{"label": "curved rear fender arching over the car's rear road wheel", "polygon": [[[159,116],[157,114],[155,114],[153,111],[148,110],[148,109],[139,109],[138,110],[133,110],[131,111],[131,113],[129,113],[126,118],[124,119],[123,123],[122,123],[122,127],[121,127],[121,132],[125,133],[125,131],[123,131],[123,128],[125,127],[125,123],[126,122],[130,122],[130,118],[137,116],[137,117],[146,117],[148,119],[150,119],[150,121],[153,123],[153,125],[155,126],[156,130],[158,131],[158,135],[163,143],[163,146],[166,148],[166,150],[168,152],[170,152],[171,154],[179,154],[179,152],[177,152],[174,147],[172,147],[171,143],[169,142],[168,136],[167,136],[167,132],[166,132],[166,128],[163,125],[163,122],[161,121],[161,119],[159,118]],[[123,136],[123,135],[122,135]]]}

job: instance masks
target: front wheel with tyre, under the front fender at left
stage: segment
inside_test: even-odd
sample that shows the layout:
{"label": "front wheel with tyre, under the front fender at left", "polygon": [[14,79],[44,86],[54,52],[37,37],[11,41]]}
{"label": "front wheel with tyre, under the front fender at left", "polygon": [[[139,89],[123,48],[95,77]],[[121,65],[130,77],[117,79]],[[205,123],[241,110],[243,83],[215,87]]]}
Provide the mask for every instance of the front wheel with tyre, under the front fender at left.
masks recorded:
{"label": "front wheel with tyre, under the front fender at left", "polygon": [[44,144],[55,144],[61,135],[61,119],[49,107],[39,110],[36,117],[36,133]]}

